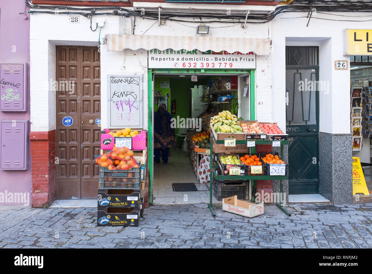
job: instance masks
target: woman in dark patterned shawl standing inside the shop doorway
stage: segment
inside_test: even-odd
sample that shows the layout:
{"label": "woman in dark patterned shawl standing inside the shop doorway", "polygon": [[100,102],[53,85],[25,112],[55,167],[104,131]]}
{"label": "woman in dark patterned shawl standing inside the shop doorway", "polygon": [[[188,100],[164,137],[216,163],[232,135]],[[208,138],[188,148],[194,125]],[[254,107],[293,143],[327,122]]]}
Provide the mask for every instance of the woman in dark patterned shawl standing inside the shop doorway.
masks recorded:
{"label": "woman in dark patterned shawl standing inside the shop doorway", "polygon": [[161,159],[168,163],[168,148],[176,148],[176,134],[171,128],[172,116],[167,111],[165,104],[160,104],[154,113],[154,161],[160,163],[160,149],[163,152]]}

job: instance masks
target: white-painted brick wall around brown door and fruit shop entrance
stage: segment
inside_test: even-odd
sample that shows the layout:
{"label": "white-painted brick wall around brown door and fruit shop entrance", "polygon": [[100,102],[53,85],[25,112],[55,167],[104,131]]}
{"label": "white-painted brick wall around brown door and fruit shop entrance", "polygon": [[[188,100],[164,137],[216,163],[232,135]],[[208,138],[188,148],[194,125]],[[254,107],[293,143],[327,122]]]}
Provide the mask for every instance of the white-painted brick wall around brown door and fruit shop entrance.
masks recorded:
{"label": "white-painted brick wall around brown door and fruit shop entrance", "polygon": [[[93,17],[93,29],[97,17]],[[101,42],[105,34],[119,34],[118,16],[107,15],[100,18],[105,19]],[[80,16],[80,20],[80,23],[70,23],[68,15],[31,15],[31,131],[55,129],[55,92],[48,91],[48,86],[44,84],[50,79],[55,80],[55,45],[98,45],[99,29],[93,32],[90,30],[89,19]],[[198,21],[167,21],[166,25],[158,26],[157,21],[137,18],[134,34],[195,36]],[[212,37],[268,38],[270,23],[248,23],[246,29],[241,28],[241,24],[213,23],[210,26]],[[147,129],[147,51],[128,49],[113,52],[107,51],[106,45],[101,45],[100,54],[102,129],[107,127],[107,75],[120,73],[144,75],[144,128]],[[262,102],[260,105],[256,104],[256,119],[272,121],[271,56],[257,56],[256,59],[256,103]]]}

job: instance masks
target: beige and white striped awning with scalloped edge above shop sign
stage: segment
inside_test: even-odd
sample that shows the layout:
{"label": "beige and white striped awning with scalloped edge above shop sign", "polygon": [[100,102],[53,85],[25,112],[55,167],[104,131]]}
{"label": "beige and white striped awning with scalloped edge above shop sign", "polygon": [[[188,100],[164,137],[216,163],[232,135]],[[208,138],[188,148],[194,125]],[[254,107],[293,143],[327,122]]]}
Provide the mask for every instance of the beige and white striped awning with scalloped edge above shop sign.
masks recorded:
{"label": "beige and white striped awning with scalloped edge above shop sign", "polygon": [[265,38],[226,38],[226,37],[191,37],[191,36],[163,36],[163,35],[119,35],[107,34],[107,50],[121,51],[125,48],[138,50],[222,50],[228,53],[239,51],[248,53],[253,51],[257,55],[270,53],[270,39]]}

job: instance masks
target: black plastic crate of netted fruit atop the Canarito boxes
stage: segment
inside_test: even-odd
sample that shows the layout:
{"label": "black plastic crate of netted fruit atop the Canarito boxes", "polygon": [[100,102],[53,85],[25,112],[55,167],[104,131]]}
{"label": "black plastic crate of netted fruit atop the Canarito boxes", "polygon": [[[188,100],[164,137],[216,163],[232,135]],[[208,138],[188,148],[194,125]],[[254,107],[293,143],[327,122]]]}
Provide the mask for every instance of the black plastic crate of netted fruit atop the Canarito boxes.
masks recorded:
{"label": "black plastic crate of netted fruit atop the Canarito boxes", "polygon": [[107,167],[99,168],[99,188],[141,188],[141,167],[132,167],[129,170],[109,170]]}

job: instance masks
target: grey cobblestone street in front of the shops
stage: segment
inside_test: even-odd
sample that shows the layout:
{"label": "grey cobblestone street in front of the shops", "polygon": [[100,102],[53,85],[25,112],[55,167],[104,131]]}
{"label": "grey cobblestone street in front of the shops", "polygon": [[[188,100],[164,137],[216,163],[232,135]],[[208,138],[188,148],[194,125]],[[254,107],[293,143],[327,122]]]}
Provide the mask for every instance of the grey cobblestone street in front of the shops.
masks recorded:
{"label": "grey cobblestone street in front of the shops", "polygon": [[276,206],[247,218],[205,204],[145,208],[139,227],[97,227],[97,208],[0,208],[0,248],[372,248],[372,204]]}

